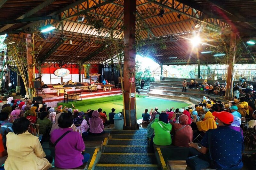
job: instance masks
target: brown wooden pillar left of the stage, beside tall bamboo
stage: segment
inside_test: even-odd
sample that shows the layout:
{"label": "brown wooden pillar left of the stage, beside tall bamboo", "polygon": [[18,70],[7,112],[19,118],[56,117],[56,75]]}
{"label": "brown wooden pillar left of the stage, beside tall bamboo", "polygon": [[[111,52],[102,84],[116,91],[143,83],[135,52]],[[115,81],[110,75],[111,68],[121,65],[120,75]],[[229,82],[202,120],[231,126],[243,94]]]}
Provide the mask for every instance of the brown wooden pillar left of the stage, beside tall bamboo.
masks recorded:
{"label": "brown wooden pillar left of the stage, beside tall bamboo", "polygon": [[28,63],[28,88],[34,88],[34,71],[33,71],[33,55],[31,54],[32,47],[32,37],[31,34],[26,33],[26,43],[27,43],[27,63]]}

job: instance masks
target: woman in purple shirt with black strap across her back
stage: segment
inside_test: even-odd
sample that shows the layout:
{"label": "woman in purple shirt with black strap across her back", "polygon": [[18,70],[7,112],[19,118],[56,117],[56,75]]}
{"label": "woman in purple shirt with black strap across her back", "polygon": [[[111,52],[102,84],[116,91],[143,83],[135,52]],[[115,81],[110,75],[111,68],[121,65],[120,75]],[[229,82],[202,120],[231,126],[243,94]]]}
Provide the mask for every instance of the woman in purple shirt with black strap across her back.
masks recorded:
{"label": "woman in purple shirt with black strap across her back", "polygon": [[54,144],[64,133],[68,132],[55,145],[55,166],[63,169],[70,169],[82,166],[90,158],[90,154],[81,153],[85,149],[82,136],[71,128],[73,116],[62,113],[58,119],[59,129],[55,129],[51,135],[51,142]]}

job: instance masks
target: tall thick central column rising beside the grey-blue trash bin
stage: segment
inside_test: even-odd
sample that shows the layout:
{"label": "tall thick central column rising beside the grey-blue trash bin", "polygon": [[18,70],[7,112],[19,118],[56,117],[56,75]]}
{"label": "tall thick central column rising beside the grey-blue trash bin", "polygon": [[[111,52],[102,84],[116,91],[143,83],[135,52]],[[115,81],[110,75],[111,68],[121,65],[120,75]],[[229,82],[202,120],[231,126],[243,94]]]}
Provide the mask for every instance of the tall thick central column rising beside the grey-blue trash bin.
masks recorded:
{"label": "tall thick central column rising beside the grey-blue trash bin", "polygon": [[130,82],[130,78],[135,77],[135,13],[136,1],[124,0],[124,129],[137,129],[135,98],[130,98],[131,93],[135,94],[135,82],[132,87]]}

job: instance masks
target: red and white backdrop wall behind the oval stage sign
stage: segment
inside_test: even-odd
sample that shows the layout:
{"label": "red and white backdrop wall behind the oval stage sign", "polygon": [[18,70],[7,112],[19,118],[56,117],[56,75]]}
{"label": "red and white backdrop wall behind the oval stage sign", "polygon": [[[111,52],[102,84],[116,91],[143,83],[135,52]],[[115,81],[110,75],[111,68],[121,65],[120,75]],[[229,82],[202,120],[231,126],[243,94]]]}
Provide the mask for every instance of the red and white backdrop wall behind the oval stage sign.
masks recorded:
{"label": "red and white backdrop wall behind the oval stage sign", "polygon": [[[69,80],[72,80],[72,82],[89,82],[90,78],[86,79],[84,77],[84,68],[81,70],[81,78],[82,80],[79,80],[79,66],[77,64],[65,64],[62,67],[60,67],[60,64],[57,63],[44,63],[41,66],[41,76],[42,81],[44,81],[44,84],[50,85],[50,84],[58,84],[61,83],[60,77],[54,75],[54,71],[60,68],[68,69],[70,71],[70,74],[68,76],[62,77],[63,82],[67,82]],[[99,71],[99,65],[98,64],[92,64],[90,66],[90,74],[92,73],[98,73]],[[39,77],[39,69],[36,69],[36,77]]]}

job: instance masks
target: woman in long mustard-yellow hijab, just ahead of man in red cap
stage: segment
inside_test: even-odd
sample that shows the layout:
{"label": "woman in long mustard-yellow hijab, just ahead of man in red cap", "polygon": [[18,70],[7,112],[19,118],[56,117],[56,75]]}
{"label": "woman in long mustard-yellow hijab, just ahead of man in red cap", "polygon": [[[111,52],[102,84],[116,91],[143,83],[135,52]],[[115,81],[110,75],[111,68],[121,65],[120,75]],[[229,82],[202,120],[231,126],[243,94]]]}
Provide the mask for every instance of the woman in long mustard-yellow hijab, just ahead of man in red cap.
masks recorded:
{"label": "woman in long mustard-yellow hijab, just ahead of man in red cap", "polygon": [[204,133],[209,129],[216,129],[217,124],[214,120],[212,112],[208,111],[204,116],[204,121],[196,122],[197,129],[203,131]]}

